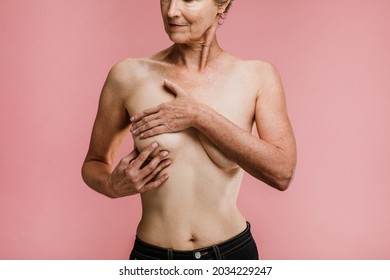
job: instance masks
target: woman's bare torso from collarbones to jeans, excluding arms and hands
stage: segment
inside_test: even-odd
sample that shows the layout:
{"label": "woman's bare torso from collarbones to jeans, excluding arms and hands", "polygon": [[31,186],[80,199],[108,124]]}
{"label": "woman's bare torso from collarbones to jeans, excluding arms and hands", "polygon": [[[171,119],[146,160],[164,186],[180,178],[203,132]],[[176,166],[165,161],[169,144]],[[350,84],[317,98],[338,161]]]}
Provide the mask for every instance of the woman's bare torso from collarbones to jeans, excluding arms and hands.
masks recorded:
{"label": "woman's bare torso from collarbones to jeans, excluding arms and hands", "polygon": [[[258,90],[258,62],[239,60],[226,53],[222,63],[202,73],[189,73],[164,61],[164,53],[147,59],[127,60],[131,89],[125,97],[130,116],[174,99],[163,88],[165,78],[180,84],[198,101],[251,131]],[[249,74],[248,74],[249,73]],[[250,74],[253,73],[253,74]],[[258,76],[257,76],[258,78]],[[142,151],[153,141],[168,150],[169,179],[141,194],[142,219],[137,235],[145,242],[177,250],[190,250],[225,241],[246,227],[236,206],[243,170],[204,135],[190,128],[141,139]]]}

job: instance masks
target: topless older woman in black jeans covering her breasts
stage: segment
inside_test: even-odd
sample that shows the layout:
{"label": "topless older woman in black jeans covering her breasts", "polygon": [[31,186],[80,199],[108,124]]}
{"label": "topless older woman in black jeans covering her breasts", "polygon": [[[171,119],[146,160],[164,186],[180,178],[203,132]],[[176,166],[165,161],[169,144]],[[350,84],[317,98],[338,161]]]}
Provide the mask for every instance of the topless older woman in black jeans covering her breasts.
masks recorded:
{"label": "topless older woman in black jeans covering her breasts", "polygon": [[[281,191],[293,177],[281,80],[272,65],[219,46],[232,0],[160,4],[173,45],[111,69],[83,178],[111,198],[141,195],[130,259],[258,259],[236,200],[244,171]],[[114,167],[129,130],[134,151]]]}

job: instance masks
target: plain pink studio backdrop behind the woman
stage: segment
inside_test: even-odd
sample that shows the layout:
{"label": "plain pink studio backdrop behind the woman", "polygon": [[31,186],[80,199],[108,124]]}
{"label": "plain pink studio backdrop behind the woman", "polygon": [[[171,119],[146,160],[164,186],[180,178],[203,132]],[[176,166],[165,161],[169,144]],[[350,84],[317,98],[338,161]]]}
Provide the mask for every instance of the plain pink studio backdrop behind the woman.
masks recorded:
{"label": "plain pink studio backdrop behind the woman", "polygon": [[[236,0],[219,29],[280,70],[297,137],[287,192],[244,180],[262,258],[390,259],[389,14],[388,0]],[[128,257],[139,197],[99,195],[80,168],[110,67],[169,44],[157,0],[1,0],[0,259]]]}

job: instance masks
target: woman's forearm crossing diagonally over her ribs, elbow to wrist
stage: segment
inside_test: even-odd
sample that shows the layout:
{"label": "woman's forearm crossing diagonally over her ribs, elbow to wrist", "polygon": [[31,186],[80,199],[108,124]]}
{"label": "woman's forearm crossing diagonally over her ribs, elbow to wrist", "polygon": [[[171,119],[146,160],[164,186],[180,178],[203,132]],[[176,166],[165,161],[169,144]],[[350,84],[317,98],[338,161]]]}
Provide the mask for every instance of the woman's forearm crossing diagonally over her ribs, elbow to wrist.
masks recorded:
{"label": "woman's forearm crossing diagonally over her ribs, elbow to wrist", "polygon": [[285,151],[205,105],[197,110],[194,127],[249,174],[278,190],[287,189],[295,161]]}

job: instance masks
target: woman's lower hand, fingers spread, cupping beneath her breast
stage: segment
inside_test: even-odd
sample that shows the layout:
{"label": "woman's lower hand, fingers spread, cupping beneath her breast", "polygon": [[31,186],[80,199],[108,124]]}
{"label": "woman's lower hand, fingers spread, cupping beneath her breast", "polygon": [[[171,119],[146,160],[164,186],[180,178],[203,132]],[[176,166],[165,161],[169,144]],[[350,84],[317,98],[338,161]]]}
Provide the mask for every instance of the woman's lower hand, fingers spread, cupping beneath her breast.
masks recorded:
{"label": "woman's lower hand, fingers spread, cupping beneath her breast", "polygon": [[157,149],[156,142],[142,152],[136,149],[121,159],[107,181],[112,197],[123,197],[143,193],[157,188],[168,179],[168,174],[159,174],[171,164],[168,151],[160,151],[153,159],[149,156]]}

